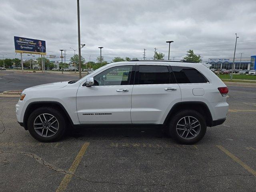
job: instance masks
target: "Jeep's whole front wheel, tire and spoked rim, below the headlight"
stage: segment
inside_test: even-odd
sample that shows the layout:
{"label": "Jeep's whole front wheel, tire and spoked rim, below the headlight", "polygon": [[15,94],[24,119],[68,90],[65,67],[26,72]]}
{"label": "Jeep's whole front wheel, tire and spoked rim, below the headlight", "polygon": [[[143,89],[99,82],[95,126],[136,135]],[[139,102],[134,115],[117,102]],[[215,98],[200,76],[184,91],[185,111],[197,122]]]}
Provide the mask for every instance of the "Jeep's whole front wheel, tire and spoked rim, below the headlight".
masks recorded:
{"label": "Jeep's whole front wheel, tire and spoked rim, below the headlight", "polygon": [[28,118],[28,131],[38,141],[54,142],[64,135],[66,121],[55,108],[38,108]]}

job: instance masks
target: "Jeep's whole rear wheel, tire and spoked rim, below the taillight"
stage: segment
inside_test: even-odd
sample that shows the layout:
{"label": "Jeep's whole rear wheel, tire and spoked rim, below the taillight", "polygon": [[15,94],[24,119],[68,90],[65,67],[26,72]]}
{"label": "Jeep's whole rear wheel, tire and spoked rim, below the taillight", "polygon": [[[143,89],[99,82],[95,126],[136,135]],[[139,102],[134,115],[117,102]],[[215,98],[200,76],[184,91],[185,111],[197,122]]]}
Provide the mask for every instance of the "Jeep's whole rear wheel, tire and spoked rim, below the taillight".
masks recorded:
{"label": "Jeep's whole rear wheel, tire and spoked rim, below the taillight", "polygon": [[172,137],[182,144],[194,144],[206,133],[204,117],[194,110],[178,112],[170,121],[169,131]]}

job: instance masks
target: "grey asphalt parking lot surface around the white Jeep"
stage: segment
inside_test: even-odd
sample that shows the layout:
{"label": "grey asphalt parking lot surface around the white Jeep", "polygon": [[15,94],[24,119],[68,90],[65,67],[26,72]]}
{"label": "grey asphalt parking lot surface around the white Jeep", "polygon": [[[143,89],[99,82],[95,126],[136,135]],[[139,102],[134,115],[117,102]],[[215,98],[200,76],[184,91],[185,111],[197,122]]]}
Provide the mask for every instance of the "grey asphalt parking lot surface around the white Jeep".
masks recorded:
{"label": "grey asphalt parking lot surface around the white Jeep", "polygon": [[[6,75],[4,75],[6,74]],[[75,80],[0,75],[0,92]],[[196,145],[156,128],[81,128],[40,143],[16,121],[18,98],[0,97],[0,191],[256,191],[256,86],[228,86],[224,124]]]}

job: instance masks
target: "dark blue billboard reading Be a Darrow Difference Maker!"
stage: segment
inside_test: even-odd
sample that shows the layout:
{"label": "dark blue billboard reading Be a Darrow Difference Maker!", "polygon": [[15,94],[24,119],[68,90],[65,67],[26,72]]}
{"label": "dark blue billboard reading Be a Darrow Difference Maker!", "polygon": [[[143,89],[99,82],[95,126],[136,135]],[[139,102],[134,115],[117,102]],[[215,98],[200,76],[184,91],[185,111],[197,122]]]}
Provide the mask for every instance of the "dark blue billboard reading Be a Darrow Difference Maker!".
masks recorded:
{"label": "dark blue billboard reading Be a Darrow Difference Maker!", "polygon": [[43,40],[14,36],[14,46],[16,53],[46,55],[46,44]]}

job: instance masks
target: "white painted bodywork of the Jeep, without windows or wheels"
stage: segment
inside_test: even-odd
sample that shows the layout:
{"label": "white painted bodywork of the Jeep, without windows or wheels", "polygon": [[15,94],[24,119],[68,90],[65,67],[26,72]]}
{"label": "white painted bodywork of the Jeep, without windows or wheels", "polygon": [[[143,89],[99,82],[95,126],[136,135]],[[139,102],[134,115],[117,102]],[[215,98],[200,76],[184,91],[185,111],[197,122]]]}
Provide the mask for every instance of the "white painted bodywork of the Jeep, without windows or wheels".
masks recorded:
{"label": "white painted bodywork of the Jeep, without windows or wheels", "polygon": [[[171,65],[196,68],[207,77],[207,83],[82,86],[86,78],[93,77],[113,66],[123,65]],[[226,85],[202,64],[169,62],[117,62],[108,64],[74,84],[56,82],[34,86],[23,90],[24,100],[16,104],[18,122],[24,122],[26,108],[32,102],[58,102],[76,124],[163,124],[168,112],[178,102],[203,102],[212,115],[212,120],[226,118],[228,104],[218,87]],[[167,91],[165,88],[176,88]],[[128,92],[117,92],[119,89]],[[107,102],[106,102],[107,101]],[[157,102],[153,102],[157,101]],[[112,115],[90,116],[85,113],[112,113]]]}

